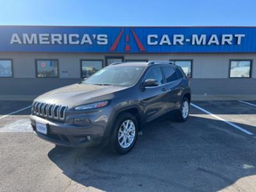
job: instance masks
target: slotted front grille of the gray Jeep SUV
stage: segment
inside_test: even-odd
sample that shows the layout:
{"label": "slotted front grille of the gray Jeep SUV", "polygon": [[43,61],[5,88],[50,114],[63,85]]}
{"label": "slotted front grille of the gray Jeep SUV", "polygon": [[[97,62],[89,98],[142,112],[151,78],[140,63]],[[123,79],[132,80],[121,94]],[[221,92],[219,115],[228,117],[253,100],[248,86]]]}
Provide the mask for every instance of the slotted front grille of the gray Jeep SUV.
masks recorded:
{"label": "slotted front grille of the gray Jeep SUV", "polygon": [[32,109],[37,116],[63,121],[65,120],[65,111],[67,110],[67,106],[35,102],[33,103]]}

